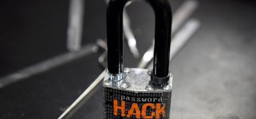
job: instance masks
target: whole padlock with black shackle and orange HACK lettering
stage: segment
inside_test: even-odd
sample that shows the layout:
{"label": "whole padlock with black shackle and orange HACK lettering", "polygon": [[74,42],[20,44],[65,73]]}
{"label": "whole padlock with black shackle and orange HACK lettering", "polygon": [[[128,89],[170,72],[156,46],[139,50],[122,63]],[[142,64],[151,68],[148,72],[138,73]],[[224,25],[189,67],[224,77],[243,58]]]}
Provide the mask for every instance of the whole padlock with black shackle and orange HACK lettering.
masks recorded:
{"label": "whole padlock with black shackle and orange HACK lettering", "polygon": [[153,70],[123,69],[123,8],[130,0],[111,0],[107,9],[108,69],[103,81],[104,119],[169,119],[172,12],[168,0],[146,0],[155,12]]}

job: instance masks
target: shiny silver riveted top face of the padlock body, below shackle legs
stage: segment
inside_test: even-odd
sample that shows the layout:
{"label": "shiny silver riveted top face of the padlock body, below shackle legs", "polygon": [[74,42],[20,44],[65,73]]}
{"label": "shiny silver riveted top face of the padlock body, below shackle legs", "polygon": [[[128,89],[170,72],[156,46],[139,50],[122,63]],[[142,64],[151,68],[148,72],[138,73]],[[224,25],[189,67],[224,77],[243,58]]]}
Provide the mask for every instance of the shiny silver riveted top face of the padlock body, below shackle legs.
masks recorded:
{"label": "shiny silver riveted top face of the padlock body, below shackle legs", "polygon": [[[122,79],[120,81],[112,81],[110,73],[106,71],[103,86],[135,92],[169,92],[172,91],[172,74],[169,81],[164,86],[157,86],[150,81],[149,70],[142,68],[124,68]],[[128,70],[128,71],[127,71]]]}

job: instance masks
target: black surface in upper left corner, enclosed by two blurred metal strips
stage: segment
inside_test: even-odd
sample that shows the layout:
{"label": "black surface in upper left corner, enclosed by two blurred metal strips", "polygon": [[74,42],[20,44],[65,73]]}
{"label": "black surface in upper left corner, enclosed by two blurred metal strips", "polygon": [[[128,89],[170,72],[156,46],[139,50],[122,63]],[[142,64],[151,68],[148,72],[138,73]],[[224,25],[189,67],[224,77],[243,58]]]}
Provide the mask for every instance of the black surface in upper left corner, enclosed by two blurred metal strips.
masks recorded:
{"label": "black surface in upper left corner, enclosed by two blurred metal strips", "polygon": [[0,76],[66,51],[68,0],[1,0],[0,15]]}

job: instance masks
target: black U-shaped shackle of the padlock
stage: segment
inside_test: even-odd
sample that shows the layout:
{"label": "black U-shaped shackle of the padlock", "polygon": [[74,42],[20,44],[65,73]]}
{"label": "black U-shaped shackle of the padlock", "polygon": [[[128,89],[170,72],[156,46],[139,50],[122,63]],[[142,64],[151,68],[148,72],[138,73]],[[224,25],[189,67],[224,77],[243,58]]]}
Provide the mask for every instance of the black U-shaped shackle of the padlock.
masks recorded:
{"label": "black U-shaped shackle of the padlock", "polygon": [[[111,75],[123,72],[123,9],[131,0],[110,0],[107,8],[108,71]],[[172,11],[168,0],[145,0],[155,13],[154,65],[151,80],[159,77],[157,84],[169,80],[169,55],[171,43]],[[163,80],[164,77],[168,79]],[[153,80],[154,81],[154,80]]]}

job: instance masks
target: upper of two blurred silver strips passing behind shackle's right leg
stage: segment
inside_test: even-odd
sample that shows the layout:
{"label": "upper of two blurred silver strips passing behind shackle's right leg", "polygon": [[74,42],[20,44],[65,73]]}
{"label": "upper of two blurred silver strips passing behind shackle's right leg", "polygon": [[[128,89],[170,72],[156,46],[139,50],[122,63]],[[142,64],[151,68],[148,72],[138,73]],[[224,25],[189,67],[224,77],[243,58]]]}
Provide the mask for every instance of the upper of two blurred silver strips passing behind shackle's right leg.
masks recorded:
{"label": "upper of two blurred silver strips passing behind shackle's right leg", "polygon": [[[198,7],[198,2],[195,0],[186,0],[181,7],[176,10],[176,12],[173,14],[173,20],[172,20],[172,34],[175,33],[178,28],[182,25],[182,23],[188,19],[189,16],[194,13],[194,11]],[[154,39],[153,39],[154,41]],[[173,42],[172,42],[173,44]],[[172,51],[170,51],[172,52]],[[146,67],[149,62],[152,60],[154,54],[154,44],[152,44],[148,51],[143,55],[142,60],[138,64],[138,68],[144,68]]]}

